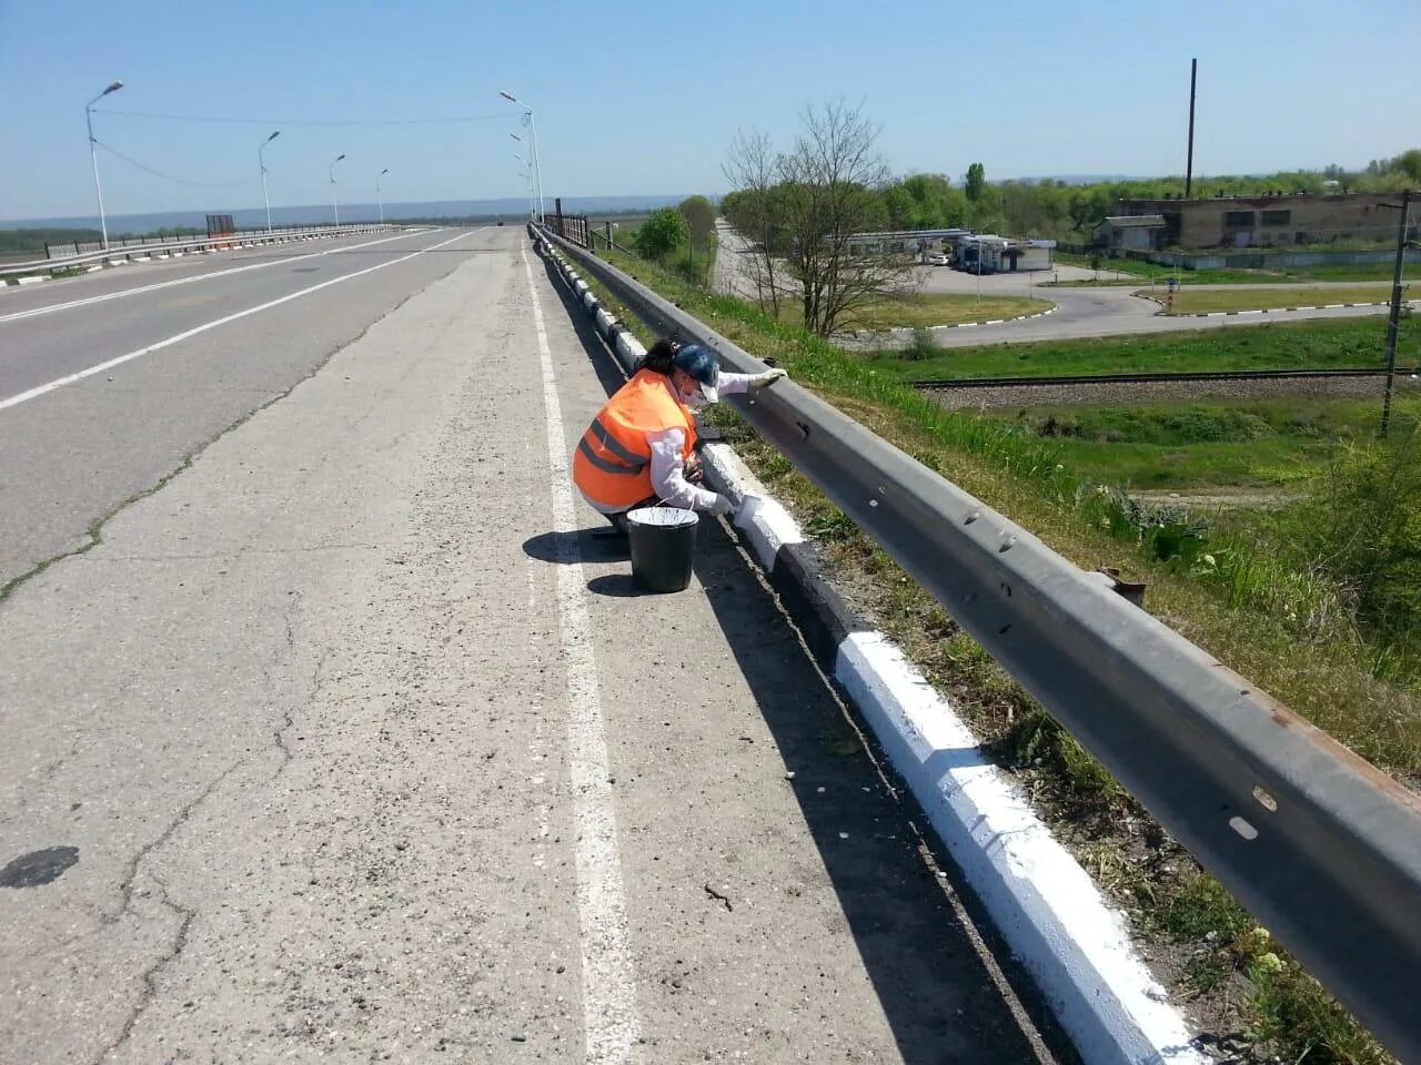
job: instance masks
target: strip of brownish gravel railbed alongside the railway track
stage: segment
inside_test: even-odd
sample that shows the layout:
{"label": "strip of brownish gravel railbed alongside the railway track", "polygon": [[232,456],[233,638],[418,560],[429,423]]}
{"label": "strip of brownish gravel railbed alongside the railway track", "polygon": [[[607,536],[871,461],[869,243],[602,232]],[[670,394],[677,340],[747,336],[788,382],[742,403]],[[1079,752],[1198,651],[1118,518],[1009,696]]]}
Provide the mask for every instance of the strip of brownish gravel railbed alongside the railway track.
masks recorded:
{"label": "strip of brownish gravel railbed alongside the railway track", "polygon": [[[1421,389],[1421,379],[1397,375],[1398,392]],[[1100,385],[1013,385],[1003,388],[924,388],[953,410],[989,406],[1061,406],[1151,403],[1194,399],[1272,399],[1323,396],[1327,399],[1380,399],[1384,378],[1285,378],[1279,381],[1131,381]]]}

